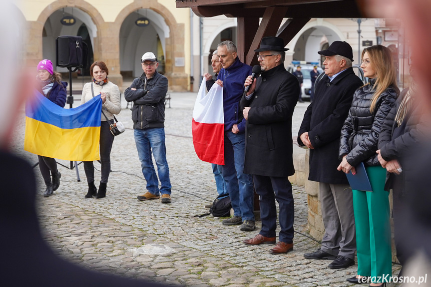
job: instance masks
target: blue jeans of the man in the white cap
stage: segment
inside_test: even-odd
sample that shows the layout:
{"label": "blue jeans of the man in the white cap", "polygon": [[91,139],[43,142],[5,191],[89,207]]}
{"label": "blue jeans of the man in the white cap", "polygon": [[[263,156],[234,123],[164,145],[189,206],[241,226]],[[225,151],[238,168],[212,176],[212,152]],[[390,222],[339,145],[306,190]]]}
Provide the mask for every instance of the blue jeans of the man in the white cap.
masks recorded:
{"label": "blue jeans of the man in the white cap", "polygon": [[134,136],[139,160],[141,161],[142,174],[147,181],[147,190],[154,195],[159,195],[159,182],[151,158],[152,151],[161,184],[160,193],[170,195],[172,186],[169,179],[168,162],[166,161],[165,129],[135,129]]}

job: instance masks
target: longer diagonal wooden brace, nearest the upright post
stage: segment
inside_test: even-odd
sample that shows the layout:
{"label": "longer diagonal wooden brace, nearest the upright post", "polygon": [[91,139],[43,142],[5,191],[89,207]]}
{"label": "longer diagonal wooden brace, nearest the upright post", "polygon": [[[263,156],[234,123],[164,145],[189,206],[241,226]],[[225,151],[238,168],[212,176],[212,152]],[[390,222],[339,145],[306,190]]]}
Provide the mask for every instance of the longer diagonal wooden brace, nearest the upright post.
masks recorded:
{"label": "longer diagonal wooden brace, nearest the upright post", "polygon": [[257,59],[253,61],[256,54],[254,50],[259,47],[259,43],[263,37],[274,36],[276,34],[287,9],[288,7],[267,7],[265,9],[262,21],[260,22],[259,28],[257,29],[256,35],[254,36],[253,42],[248,50],[245,59],[246,64],[251,65],[253,63],[257,63]]}

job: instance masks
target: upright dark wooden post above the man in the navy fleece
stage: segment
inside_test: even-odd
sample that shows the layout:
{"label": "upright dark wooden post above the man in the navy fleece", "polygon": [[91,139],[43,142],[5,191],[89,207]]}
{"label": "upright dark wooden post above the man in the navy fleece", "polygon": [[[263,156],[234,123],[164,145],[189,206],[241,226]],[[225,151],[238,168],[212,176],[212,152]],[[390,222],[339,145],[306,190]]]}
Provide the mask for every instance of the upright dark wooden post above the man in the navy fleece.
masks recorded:
{"label": "upright dark wooden post above the man in the navy fleece", "polygon": [[259,28],[259,17],[240,17],[237,19],[237,54],[239,59],[245,63],[246,56],[254,35]]}

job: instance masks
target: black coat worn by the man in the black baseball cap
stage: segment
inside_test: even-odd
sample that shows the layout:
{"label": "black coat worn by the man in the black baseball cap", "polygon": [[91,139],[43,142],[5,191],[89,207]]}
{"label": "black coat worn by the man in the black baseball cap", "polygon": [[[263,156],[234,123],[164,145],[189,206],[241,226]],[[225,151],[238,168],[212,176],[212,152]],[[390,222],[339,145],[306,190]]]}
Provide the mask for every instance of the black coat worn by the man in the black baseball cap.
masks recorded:
{"label": "black coat worn by the man in the black baseball cap", "polygon": [[308,179],[332,184],[348,184],[346,175],[338,171],[340,164],[341,128],[352,105],[355,90],[363,82],[353,68],[339,74],[332,82],[325,75],[317,83],[313,102],[308,106],[298,132],[298,144],[304,146],[301,134],[308,132],[314,149],[310,150]]}

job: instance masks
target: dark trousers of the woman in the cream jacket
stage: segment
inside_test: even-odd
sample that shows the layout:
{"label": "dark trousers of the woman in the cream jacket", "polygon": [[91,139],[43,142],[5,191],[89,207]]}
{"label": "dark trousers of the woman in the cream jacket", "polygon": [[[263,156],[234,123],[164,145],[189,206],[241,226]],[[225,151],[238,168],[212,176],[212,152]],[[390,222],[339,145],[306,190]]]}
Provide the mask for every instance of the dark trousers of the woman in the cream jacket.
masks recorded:
{"label": "dark trousers of the woman in the cream jacket", "polygon": [[[107,183],[109,172],[111,171],[111,149],[114,142],[114,135],[109,131],[109,124],[106,121],[100,122],[100,163],[101,180],[100,183]],[[84,171],[87,182],[94,182],[94,165],[92,161],[84,161]]]}

